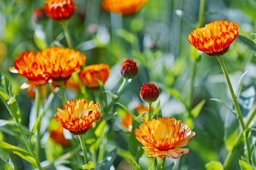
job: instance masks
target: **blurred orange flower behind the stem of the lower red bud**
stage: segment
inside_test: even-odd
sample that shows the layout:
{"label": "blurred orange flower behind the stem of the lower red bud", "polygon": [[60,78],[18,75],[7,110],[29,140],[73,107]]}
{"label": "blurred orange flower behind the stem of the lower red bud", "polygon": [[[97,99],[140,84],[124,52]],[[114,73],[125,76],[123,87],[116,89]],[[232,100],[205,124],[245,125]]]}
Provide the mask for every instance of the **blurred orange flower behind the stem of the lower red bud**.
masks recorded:
{"label": "blurred orange flower behind the stem of the lower red bud", "polygon": [[[139,106],[136,107],[136,110],[137,110],[138,114],[140,115],[141,113],[147,113],[148,107],[140,104]],[[154,108],[151,107],[151,112],[153,110],[154,110]],[[147,121],[147,118],[148,118],[147,116],[141,117],[141,119],[144,121]],[[132,131],[132,117],[131,117],[131,115],[129,115],[129,113],[125,113],[125,116],[121,121],[121,125],[124,126],[125,128],[127,128],[128,132]]]}

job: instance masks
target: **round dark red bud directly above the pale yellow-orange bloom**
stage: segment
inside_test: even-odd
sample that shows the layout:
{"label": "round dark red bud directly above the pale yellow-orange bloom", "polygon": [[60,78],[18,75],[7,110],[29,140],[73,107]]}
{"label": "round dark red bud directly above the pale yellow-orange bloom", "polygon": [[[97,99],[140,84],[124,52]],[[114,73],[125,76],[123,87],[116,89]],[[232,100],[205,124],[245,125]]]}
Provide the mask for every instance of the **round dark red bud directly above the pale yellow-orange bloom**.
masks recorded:
{"label": "round dark red bud directly above the pale yellow-orange bloom", "polygon": [[152,103],[157,100],[159,90],[153,83],[143,84],[140,90],[140,97],[147,103]]}

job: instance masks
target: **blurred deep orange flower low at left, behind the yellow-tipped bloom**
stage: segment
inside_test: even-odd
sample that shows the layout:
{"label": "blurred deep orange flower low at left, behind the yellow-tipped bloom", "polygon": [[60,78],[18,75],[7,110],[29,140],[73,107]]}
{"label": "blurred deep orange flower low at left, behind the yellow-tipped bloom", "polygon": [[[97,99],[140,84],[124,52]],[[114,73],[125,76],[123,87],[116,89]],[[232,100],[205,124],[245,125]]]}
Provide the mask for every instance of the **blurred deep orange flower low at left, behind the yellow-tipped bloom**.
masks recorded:
{"label": "blurred deep orange flower low at left, behind the yellow-tipped bloom", "polygon": [[68,146],[71,142],[65,138],[63,132],[64,128],[59,124],[57,129],[50,131],[50,138],[62,146]]}

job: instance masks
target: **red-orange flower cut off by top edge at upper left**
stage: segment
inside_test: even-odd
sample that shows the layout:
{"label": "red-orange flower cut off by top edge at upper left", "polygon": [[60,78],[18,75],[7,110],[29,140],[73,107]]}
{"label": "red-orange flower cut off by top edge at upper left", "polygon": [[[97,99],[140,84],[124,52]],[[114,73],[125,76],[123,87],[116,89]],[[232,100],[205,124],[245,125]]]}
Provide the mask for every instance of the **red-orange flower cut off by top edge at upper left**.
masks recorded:
{"label": "red-orange flower cut off by top edge at upper left", "polygon": [[70,18],[75,11],[73,0],[47,0],[44,7],[47,16],[54,20]]}

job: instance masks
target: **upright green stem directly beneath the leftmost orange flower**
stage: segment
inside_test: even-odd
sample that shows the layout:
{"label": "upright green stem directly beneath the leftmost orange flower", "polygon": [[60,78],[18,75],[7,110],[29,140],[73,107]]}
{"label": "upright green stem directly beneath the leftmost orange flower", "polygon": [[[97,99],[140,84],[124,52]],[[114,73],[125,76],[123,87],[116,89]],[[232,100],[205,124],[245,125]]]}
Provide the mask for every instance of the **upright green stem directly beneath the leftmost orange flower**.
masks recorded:
{"label": "upright green stem directly beneath the leftmost orange flower", "polygon": [[[35,98],[35,104],[36,104],[36,118],[39,117],[40,114],[40,99],[41,99],[41,86],[36,87],[36,98]],[[40,148],[41,148],[41,122],[39,122],[38,127],[36,129],[37,136],[36,136],[36,155],[38,157],[38,160],[40,160]]]}

